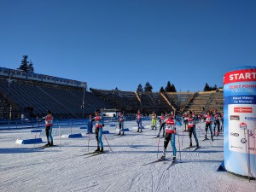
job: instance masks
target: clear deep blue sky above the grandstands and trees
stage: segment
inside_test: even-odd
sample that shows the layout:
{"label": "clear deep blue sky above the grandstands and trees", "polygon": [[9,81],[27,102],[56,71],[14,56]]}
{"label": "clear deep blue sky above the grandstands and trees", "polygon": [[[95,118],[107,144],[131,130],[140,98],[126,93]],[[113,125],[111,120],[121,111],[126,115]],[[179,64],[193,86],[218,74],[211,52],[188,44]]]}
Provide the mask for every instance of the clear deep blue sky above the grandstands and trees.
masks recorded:
{"label": "clear deep blue sky above the grandstands and trees", "polygon": [[255,0],[0,0],[0,67],[104,90],[223,85],[256,66]]}

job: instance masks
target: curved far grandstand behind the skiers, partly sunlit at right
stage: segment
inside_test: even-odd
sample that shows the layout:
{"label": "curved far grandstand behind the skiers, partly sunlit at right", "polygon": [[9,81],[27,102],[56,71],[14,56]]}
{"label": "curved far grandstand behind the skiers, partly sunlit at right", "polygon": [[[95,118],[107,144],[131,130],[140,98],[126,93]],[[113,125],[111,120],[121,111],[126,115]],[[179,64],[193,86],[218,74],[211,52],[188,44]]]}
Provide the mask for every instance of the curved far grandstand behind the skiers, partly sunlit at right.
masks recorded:
{"label": "curved far grandstand behind the skiers, partly sunlit at right", "polygon": [[206,92],[133,92],[122,90],[96,90],[90,88],[96,96],[104,101],[111,102],[115,108],[126,113],[137,113],[141,109],[143,113],[157,114],[172,111],[172,106],[178,113],[195,111],[202,113],[207,110],[223,111],[223,89]]}

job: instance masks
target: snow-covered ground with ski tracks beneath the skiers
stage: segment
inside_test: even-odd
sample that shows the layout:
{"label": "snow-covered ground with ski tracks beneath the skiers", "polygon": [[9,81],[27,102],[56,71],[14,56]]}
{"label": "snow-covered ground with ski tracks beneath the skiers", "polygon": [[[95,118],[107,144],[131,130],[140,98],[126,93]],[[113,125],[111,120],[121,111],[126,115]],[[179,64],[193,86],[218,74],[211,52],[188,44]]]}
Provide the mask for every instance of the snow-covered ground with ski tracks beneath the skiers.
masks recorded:
{"label": "snow-covered ground with ski tracks beneath the skiers", "polygon": [[[166,168],[171,162],[158,162],[143,166],[160,158],[164,139],[154,138],[156,131],[150,129],[150,122],[143,121],[142,133],[137,133],[136,122],[125,122],[124,137],[116,136],[115,126],[105,125],[105,134],[111,148],[103,137],[107,154],[85,158],[84,153],[96,149],[94,134],[89,135],[78,128],[58,128],[53,131],[58,146],[37,148],[46,143],[21,145],[17,139],[33,138],[31,130],[0,131],[0,191],[242,191],[253,192],[256,182],[237,177],[230,172],[217,172],[222,160],[223,136],[215,137],[211,144],[202,142],[204,124],[197,126],[197,136],[202,148],[197,151],[183,150],[189,145],[188,132],[178,127],[176,136],[177,164]],[[112,123],[113,125],[113,123]],[[83,137],[63,138],[60,135],[70,131],[82,131]],[[209,133],[208,133],[209,135]],[[61,143],[61,145],[59,145]],[[159,153],[158,153],[158,143]],[[193,138],[193,144],[195,139]],[[169,143],[168,154],[172,157]],[[181,150],[179,152],[179,149]],[[181,158],[181,160],[180,160]]]}

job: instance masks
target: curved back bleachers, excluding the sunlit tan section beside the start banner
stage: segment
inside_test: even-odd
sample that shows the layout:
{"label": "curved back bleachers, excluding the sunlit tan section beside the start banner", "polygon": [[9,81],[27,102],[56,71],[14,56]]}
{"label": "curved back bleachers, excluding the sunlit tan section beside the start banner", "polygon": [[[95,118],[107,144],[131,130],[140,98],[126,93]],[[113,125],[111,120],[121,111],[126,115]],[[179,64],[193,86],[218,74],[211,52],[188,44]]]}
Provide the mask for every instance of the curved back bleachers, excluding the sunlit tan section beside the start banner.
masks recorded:
{"label": "curved back bleachers, excluding the sunlit tan section beside the start banner", "polygon": [[[137,109],[143,113],[155,113],[172,111],[172,106],[177,108],[185,107],[193,96],[193,93],[166,93],[141,92],[122,90],[96,90],[90,89],[96,96],[112,102],[115,108],[125,110],[126,113],[137,113]],[[167,100],[167,101],[166,101]]]}

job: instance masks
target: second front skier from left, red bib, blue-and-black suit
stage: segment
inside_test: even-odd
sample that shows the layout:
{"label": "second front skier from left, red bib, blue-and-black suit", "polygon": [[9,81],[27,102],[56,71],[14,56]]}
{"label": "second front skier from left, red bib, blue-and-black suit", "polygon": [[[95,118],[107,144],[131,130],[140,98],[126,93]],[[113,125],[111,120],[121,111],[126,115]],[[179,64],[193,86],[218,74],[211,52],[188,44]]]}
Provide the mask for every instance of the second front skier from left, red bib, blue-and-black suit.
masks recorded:
{"label": "second front skier from left, red bib, blue-and-black suit", "polygon": [[[97,149],[95,150],[96,152],[103,152],[103,142],[102,142],[102,131],[103,131],[103,118],[100,115],[100,110],[97,109],[95,112],[95,117],[93,119],[90,119],[90,121],[96,121],[95,125],[95,134],[96,134],[96,141],[97,141]],[[101,149],[100,149],[101,145]]]}

